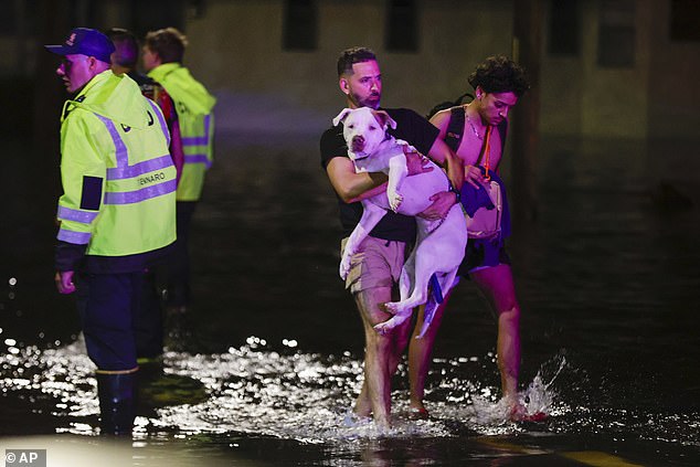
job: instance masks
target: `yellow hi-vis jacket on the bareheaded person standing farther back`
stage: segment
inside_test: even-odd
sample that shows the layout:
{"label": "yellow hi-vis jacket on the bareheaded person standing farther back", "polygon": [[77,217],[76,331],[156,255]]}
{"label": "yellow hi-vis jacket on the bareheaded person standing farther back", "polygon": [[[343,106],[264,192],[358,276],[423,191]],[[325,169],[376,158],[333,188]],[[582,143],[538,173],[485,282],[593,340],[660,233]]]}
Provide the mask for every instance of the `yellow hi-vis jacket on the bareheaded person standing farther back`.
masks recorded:
{"label": "yellow hi-vis jacket on the bareheaded person standing farther back", "polygon": [[165,63],[148,76],[172,97],[182,136],[184,167],[178,185],[178,201],[197,201],[202,193],[204,174],[213,162],[214,115],[216,99],[179,63]]}

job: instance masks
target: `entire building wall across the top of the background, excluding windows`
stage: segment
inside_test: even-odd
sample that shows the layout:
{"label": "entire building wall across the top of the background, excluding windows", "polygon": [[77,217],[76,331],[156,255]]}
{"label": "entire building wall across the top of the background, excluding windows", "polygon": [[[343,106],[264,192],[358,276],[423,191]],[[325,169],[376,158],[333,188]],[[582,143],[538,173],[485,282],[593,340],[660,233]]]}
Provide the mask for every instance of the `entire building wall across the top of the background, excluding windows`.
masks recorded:
{"label": "entire building wall across the top of the background, excluding windows", "polygon": [[[0,34],[0,77],[32,76],[38,61],[49,59],[36,28],[30,33],[28,18],[34,12],[22,0],[11,1],[18,7],[13,24],[19,32]],[[318,46],[309,52],[283,50],[284,0],[204,0],[197,15],[182,1],[190,13],[184,24],[190,38],[185,64],[219,96],[222,130],[308,134],[325,128],[344,104],[335,66],[338,53],[352,45],[378,53],[385,106],[426,114],[436,103],[471,91],[466,78],[481,59],[510,54],[513,0],[416,1],[415,53],[384,47],[388,2],[382,0],[317,0]],[[52,3],[39,4],[46,10]],[[61,4],[67,8],[73,2]],[[136,28],[129,21],[146,17],[149,22],[166,21],[153,11],[144,14],[141,3],[127,0],[76,4],[82,7],[71,14],[81,25],[88,17],[96,18],[96,28]],[[634,66],[603,68],[596,60],[602,0],[579,0],[580,53],[541,54],[542,134],[698,137],[700,42],[669,39],[670,4],[671,0],[635,0]],[[547,41],[542,43],[545,47]]]}

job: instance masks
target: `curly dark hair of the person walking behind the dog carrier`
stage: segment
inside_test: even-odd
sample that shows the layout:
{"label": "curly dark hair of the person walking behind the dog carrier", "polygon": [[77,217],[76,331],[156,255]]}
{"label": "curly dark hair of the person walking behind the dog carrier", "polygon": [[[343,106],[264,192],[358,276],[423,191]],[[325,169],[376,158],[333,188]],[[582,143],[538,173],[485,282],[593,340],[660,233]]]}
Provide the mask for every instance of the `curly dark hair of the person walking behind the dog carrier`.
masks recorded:
{"label": "curly dark hair of the person walking behind the dog carrier", "polygon": [[508,93],[522,96],[530,88],[526,71],[505,55],[489,56],[469,75],[469,84],[486,93]]}

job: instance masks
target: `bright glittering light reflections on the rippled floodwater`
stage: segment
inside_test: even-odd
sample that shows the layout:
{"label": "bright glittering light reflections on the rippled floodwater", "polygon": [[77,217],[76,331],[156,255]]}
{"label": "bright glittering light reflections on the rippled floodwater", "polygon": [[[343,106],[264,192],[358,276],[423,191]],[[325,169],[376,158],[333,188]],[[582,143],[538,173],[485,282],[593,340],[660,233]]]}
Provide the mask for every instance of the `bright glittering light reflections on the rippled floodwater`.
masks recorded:
{"label": "bright glittering light reflections on the rippled floodwater", "polygon": [[[441,437],[459,433],[507,434],[520,428],[508,422],[506,406],[498,404],[496,388],[464,380],[494,364],[480,359],[441,360],[436,368],[449,374],[439,384],[443,401],[432,405],[432,420],[413,421],[406,393],[396,394],[395,424],[378,431],[370,420],[357,418],[349,411],[362,382],[361,361],[349,355],[321,355],[266,349],[259,338],[221,354],[166,353],[167,373],[201,382],[205,401],[166,406],[152,417],[139,416],[137,433],[167,432],[246,433],[296,439],[303,443],[346,442],[379,437]],[[560,361],[559,371],[565,361]],[[93,364],[78,339],[59,349],[22,349],[3,363],[6,378],[0,389],[19,396],[50,397],[53,413],[63,417],[59,433],[94,434],[91,423],[99,413]],[[405,369],[397,378],[405,379]],[[553,405],[550,386],[538,374],[523,391],[530,412],[562,415],[568,408]],[[402,401],[403,399],[403,401]],[[43,410],[39,408],[39,410]]]}

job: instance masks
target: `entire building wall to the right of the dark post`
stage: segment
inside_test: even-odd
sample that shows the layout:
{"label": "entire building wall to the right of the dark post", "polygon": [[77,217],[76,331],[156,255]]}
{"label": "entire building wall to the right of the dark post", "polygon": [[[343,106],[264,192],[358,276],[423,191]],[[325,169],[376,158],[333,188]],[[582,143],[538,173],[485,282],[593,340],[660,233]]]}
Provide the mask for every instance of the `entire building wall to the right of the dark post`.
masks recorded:
{"label": "entire building wall to the right of the dark post", "polygon": [[543,54],[541,131],[698,138],[700,92],[694,83],[700,74],[700,42],[670,40],[670,1],[636,0],[630,68],[597,65],[600,7],[600,1],[581,2],[579,56]]}

